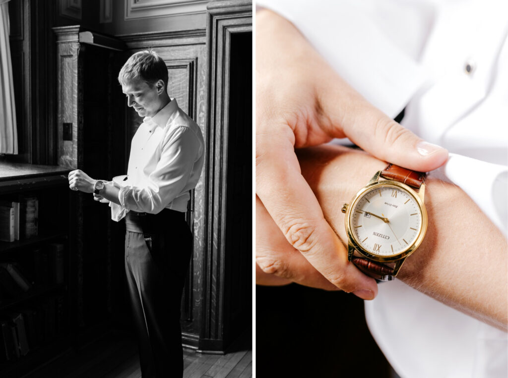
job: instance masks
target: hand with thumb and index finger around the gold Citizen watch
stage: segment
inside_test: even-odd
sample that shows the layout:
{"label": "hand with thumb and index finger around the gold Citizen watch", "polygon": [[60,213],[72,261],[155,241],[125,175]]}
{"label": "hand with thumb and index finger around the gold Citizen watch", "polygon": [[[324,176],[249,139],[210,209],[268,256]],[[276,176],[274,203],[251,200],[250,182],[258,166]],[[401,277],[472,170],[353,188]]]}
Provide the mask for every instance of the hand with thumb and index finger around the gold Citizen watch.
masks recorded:
{"label": "hand with thumb and index finger around the gold Citizen watch", "polygon": [[[287,20],[258,12],[256,38],[256,193],[291,247],[317,271],[336,287],[372,299],[375,281],[347,262],[300,173],[295,148],[347,137],[379,159],[420,171],[442,165],[448,153],[372,107]],[[258,253],[259,267],[277,274],[278,252]]]}

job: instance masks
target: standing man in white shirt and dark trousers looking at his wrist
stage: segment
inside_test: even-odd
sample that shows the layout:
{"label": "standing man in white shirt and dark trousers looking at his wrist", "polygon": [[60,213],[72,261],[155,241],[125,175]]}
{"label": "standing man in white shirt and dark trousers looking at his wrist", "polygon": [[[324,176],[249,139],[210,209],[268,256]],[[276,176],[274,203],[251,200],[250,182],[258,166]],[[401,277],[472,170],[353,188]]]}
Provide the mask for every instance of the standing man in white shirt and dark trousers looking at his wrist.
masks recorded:
{"label": "standing man in white shirt and dark trousers looking at his wrist", "polygon": [[69,186],[109,201],[112,219],[126,219],[125,271],[143,377],[181,376],[180,300],[192,248],[184,213],[203,167],[203,135],[169,97],[168,70],[154,51],[132,55],[118,81],[127,105],[144,117],[128,175],[118,185],[78,169]]}

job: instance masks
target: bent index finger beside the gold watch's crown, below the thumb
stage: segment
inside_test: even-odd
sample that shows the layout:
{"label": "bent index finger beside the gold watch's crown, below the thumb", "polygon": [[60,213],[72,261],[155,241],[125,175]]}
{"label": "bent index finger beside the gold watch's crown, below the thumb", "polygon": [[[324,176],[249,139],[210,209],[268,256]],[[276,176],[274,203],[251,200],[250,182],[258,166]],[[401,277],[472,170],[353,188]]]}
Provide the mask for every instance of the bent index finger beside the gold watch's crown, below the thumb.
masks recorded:
{"label": "bent index finger beside the gold watch's crown, below the thumb", "polygon": [[368,290],[363,298],[372,299],[375,281],[347,261],[345,247],[300,174],[291,141],[265,133],[257,136],[256,145],[256,192],[288,242],[335,286]]}

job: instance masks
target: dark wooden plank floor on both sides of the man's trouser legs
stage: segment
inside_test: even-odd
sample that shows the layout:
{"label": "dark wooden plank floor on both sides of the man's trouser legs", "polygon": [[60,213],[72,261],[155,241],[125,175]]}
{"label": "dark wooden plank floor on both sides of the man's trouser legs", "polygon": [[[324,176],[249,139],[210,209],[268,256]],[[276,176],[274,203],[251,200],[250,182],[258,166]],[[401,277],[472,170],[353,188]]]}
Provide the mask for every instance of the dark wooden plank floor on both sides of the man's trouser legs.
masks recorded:
{"label": "dark wooden plank floor on both sides of the man's trouser legs", "polygon": [[[234,352],[206,355],[184,350],[185,378],[249,378],[252,376],[250,340],[241,341]],[[23,378],[138,378],[141,377],[135,340],[123,332],[111,332],[78,352],[46,364]]]}

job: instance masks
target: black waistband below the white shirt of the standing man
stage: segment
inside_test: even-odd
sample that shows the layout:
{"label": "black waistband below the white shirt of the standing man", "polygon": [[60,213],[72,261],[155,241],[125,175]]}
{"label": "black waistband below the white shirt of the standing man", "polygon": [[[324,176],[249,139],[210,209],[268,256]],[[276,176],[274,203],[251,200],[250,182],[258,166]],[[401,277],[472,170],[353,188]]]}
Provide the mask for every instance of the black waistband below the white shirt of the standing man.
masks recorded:
{"label": "black waistband below the white shirt of the standing man", "polygon": [[127,231],[143,233],[146,242],[151,241],[152,234],[167,232],[168,224],[174,221],[185,220],[185,213],[164,209],[158,214],[138,213],[130,211],[125,216],[125,228]]}

